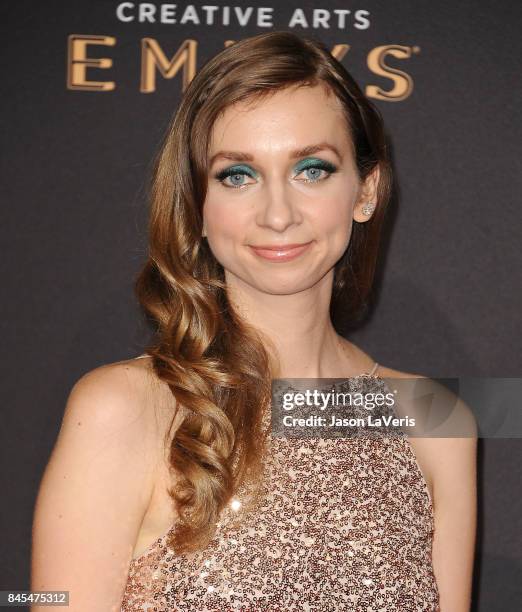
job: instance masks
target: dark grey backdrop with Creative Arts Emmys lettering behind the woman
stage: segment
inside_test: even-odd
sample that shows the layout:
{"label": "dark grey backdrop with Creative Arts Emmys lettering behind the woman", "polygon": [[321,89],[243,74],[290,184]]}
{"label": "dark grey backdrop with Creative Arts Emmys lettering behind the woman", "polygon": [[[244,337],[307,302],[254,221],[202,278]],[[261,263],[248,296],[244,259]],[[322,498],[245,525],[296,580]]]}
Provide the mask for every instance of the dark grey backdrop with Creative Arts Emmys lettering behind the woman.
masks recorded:
{"label": "dark grey backdrop with Creative Arts Emmys lettering behind the woman", "polygon": [[[350,338],[427,376],[521,376],[519,3],[3,2],[1,588],[67,395],[149,337],[132,284],[152,158],[198,68],[270,30],[321,39],[381,111],[397,188]],[[521,595],[521,444],[479,441],[474,609]]]}

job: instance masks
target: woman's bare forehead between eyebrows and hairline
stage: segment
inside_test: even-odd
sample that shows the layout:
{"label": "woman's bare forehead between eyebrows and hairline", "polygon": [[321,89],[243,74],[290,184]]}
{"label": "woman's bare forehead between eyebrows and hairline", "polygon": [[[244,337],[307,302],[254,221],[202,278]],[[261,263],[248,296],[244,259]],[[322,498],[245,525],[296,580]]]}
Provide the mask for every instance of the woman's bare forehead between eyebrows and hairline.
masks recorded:
{"label": "woman's bare forehead between eyebrows and hairline", "polygon": [[214,123],[210,155],[225,147],[261,154],[316,142],[350,148],[341,103],[322,85],[291,87],[227,107]]}

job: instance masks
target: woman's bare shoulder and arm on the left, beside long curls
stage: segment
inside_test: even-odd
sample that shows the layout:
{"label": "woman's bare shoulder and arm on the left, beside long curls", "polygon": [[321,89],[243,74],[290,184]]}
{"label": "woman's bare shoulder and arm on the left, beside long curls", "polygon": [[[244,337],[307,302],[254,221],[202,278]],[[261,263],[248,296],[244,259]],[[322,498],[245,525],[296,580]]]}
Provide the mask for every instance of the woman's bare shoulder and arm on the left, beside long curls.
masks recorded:
{"label": "woman's bare shoulder and arm on the left, beside long curls", "polygon": [[76,381],[40,483],[31,585],[67,584],[82,609],[120,601],[157,481],[158,384],[146,361],[102,365]]}

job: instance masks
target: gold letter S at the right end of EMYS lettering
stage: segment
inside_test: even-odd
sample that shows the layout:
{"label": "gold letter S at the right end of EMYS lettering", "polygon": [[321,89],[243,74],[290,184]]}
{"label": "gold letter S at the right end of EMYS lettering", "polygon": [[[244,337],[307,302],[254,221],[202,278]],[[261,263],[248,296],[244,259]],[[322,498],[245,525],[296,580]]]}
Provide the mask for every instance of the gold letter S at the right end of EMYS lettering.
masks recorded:
{"label": "gold letter S at the right end of EMYS lettering", "polygon": [[390,68],[385,64],[387,55],[391,55],[398,59],[408,59],[411,57],[411,47],[403,45],[382,45],[375,47],[368,54],[368,68],[379,76],[391,79],[394,83],[393,88],[386,91],[377,85],[367,85],[366,95],[369,98],[377,100],[386,100],[388,102],[400,102],[405,100],[413,91],[413,80],[409,74]]}

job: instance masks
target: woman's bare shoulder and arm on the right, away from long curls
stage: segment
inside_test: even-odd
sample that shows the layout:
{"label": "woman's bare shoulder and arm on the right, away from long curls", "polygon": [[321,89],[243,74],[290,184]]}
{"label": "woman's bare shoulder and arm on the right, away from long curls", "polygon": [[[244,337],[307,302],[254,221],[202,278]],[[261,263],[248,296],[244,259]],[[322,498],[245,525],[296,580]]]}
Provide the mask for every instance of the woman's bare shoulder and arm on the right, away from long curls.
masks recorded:
{"label": "woman's bare shoulder and arm on the right, away from long curls", "polygon": [[[433,427],[409,436],[430,492],[434,536],[433,570],[443,609],[469,610],[477,524],[477,422],[466,402],[429,377],[382,367],[378,375],[393,380],[418,379],[412,396],[432,399]],[[417,385],[403,385],[413,390]],[[408,408],[415,409],[415,401]]]}

